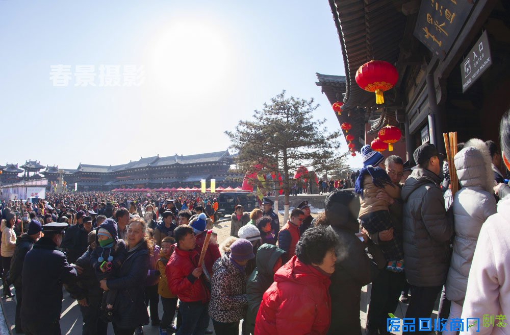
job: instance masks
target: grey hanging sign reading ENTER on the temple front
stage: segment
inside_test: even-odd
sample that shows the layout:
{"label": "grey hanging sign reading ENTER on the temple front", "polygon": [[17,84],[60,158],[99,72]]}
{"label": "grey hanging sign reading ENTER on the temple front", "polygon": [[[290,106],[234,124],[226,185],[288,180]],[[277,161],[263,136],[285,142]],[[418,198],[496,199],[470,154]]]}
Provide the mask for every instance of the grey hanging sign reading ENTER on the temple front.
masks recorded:
{"label": "grey hanging sign reading ENTER on the temple front", "polygon": [[462,92],[464,93],[492,64],[487,31],[481,34],[461,63]]}

